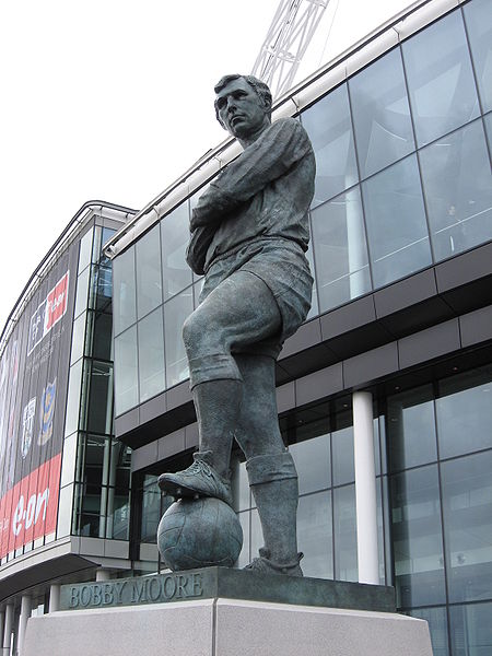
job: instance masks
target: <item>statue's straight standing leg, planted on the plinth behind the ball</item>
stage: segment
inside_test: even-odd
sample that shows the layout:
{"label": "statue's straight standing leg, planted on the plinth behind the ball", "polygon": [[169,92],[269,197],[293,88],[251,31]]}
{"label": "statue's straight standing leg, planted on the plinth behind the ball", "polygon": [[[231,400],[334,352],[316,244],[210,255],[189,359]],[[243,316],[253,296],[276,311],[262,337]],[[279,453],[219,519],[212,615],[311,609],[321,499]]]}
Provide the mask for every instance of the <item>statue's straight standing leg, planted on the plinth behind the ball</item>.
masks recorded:
{"label": "statue's straight standing leg, planted on the plinth behind the ball", "polygon": [[236,440],[246,455],[265,547],[248,569],[302,576],[297,553],[297,472],[280,435],[274,360],[238,355],[243,406]]}

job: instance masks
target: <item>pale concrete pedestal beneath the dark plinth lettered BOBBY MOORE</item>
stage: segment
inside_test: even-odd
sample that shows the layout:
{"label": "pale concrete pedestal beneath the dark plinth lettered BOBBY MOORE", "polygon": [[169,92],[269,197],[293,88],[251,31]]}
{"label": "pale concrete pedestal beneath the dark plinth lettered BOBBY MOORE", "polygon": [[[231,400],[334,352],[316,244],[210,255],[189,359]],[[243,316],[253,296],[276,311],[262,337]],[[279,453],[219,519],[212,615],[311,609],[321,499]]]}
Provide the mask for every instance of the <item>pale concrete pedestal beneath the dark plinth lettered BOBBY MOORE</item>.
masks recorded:
{"label": "pale concrete pedestal beneath the dark plinth lettered BOBBY MOORE", "polygon": [[237,599],[31,618],[23,656],[432,656],[426,622],[389,612]]}

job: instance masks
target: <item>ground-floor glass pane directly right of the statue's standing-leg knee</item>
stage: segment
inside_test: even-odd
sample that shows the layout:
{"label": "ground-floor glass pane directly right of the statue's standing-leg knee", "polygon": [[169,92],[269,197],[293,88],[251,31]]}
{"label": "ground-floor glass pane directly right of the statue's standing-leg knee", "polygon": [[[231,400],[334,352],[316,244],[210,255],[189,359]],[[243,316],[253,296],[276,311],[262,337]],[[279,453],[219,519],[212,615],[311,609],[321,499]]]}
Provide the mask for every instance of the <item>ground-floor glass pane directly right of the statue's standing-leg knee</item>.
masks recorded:
{"label": "ground-floor glass pane directly right of the statue's standing-leg knee", "polygon": [[292,444],[289,450],[297,469],[300,494],[326,490],[330,487],[329,434]]}

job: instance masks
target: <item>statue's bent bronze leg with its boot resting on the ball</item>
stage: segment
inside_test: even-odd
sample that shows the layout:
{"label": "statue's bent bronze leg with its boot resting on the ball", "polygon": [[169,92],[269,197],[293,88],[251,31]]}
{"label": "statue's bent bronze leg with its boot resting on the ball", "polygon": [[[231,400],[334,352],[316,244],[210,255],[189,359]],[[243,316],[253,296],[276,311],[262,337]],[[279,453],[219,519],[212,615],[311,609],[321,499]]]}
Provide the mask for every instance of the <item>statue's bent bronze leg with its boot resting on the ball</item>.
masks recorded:
{"label": "statue's bent bronze leg with its boot resting on the ball", "polygon": [[243,375],[231,351],[274,335],[280,326],[280,311],[270,290],[246,271],[221,282],[185,321],[200,450],[188,469],[160,477],[162,490],[175,496],[198,494],[232,502],[229,467]]}

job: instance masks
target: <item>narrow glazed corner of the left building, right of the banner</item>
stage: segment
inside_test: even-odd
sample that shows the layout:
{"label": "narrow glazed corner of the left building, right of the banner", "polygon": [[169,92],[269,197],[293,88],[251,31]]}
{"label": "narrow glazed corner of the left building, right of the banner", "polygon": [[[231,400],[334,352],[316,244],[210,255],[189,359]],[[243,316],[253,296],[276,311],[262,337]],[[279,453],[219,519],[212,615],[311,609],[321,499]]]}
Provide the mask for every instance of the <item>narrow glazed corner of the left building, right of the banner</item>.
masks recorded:
{"label": "narrow glazed corner of the left building, right of the banner", "polygon": [[103,256],[114,232],[96,225],[80,244],[58,537],[129,538],[131,452],[113,431],[113,281]]}

